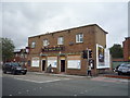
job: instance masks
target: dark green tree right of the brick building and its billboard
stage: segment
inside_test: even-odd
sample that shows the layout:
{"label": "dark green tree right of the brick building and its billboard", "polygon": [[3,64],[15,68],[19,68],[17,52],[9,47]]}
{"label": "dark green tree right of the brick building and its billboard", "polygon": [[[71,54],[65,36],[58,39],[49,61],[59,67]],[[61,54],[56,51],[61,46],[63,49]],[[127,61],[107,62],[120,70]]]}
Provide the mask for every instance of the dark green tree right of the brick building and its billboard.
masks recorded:
{"label": "dark green tree right of the brick building and its billboard", "polygon": [[114,44],[114,46],[109,48],[109,51],[113,58],[123,58],[121,45]]}

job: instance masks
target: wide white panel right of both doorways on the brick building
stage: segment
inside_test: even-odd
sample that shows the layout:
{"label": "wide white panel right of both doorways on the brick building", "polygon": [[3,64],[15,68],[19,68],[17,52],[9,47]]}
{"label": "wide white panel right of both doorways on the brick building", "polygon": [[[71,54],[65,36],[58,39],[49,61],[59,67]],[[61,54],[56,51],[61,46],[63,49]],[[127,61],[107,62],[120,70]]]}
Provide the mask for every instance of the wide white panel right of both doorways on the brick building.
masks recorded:
{"label": "wide white panel right of both doorways on the brick building", "polygon": [[80,60],[68,60],[67,69],[81,69]]}

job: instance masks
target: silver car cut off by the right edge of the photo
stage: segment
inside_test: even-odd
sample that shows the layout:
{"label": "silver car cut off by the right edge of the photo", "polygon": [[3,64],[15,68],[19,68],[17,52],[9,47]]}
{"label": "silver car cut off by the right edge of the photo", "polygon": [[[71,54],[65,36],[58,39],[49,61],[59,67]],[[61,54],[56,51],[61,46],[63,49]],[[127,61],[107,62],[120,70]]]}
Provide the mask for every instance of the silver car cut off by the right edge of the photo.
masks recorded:
{"label": "silver car cut off by the right edge of the photo", "polygon": [[121,74],[130,75],[130,64],[120,64],[117,72],[118,72],[118,75],[121,75]]}

